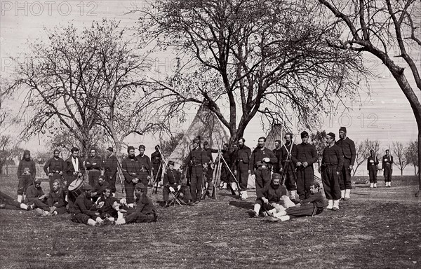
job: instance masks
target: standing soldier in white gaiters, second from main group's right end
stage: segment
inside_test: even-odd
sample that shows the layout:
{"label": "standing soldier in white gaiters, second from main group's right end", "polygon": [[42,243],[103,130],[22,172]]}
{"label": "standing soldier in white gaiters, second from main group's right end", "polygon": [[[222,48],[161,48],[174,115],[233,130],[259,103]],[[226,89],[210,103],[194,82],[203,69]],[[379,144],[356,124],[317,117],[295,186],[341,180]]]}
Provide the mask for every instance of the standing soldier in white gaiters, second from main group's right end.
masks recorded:
{"label": "standing soldier in white gaiters, second from main group's right end", "polygon": [[333,132],[326,135],[326,143],[327,146],[323,150],[321,160],[321,179],[326,199],[328,199],[326,209],[338,210],[340,201],[339,177],[344,165],[344,158],[340,147],[335,145],[335,134]]}

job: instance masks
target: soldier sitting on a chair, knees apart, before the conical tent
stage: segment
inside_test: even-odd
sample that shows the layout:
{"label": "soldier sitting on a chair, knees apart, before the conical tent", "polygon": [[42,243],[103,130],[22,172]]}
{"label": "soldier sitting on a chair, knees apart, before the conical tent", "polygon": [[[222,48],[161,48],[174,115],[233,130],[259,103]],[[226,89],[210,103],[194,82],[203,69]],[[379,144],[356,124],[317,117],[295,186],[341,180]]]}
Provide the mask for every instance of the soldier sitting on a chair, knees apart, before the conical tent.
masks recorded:
{"label": "soldier sitting on a chair, knees apart, before the conical tent", "polygon": [[187,205],[193,205],[192,195],[190,194],[190,188],[188,186],[182,186],[180,184],[181,172],[174,170],[174,162],[172,160],[168,161],[168,171],[163,175],[163,201],[165,202],[165,207],[168,207],[168,194],[174,193],[177,189],[180,191],[180,196],[183,200],[187,200]]}

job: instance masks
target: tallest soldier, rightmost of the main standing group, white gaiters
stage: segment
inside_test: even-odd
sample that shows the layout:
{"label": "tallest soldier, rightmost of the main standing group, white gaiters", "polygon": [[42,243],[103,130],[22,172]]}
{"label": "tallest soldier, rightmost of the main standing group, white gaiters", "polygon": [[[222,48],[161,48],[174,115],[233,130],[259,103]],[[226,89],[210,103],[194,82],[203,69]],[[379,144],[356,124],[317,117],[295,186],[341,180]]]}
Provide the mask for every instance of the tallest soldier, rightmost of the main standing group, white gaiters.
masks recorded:
{"label": "tallest soldier, rightmost of the main standing group, white gaiters", "polygon": [[349,200],[349,195],[351,193],[352,184],[351,184],[351,170],[354,169],[356,150],[354,141],[347,137],[347,128],[339,128],[339,140],[336,144],[342,150],[344,154],[344,166],[342,167],[342,172],[340,175],[339,185],[340,185],[340,197],[343,200]]}

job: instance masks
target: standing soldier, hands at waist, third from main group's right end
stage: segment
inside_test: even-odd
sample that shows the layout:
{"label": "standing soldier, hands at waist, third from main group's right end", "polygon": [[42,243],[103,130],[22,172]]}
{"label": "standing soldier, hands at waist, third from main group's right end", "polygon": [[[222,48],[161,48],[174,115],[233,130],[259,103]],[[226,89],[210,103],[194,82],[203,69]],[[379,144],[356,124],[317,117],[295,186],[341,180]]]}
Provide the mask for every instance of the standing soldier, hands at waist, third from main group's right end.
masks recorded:
{"label": "standing soldier, hands at waist, third from main group's right end", "polygon": [[293,163],[297,169],[297,192],[300,200],[305,200],[310,196],[310,185],[314,181],[313,163],[316,163],[318,156],[316,148],[309,144],[309,133],[301,132],[302,143],[297,145],[297,157],[293,158]]}

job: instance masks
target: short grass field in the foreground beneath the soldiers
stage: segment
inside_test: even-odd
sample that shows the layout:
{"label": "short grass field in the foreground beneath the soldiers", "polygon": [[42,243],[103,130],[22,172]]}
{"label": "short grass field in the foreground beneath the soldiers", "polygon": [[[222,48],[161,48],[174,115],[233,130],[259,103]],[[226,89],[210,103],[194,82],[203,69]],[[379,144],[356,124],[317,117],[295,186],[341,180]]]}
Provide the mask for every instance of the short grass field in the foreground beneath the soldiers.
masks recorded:
{"label": "short grass field in the foreground beneath the soldiers", "polygon": [[[15,197],[16,179],[0,182]],[[354,186],[338,212],[281,223],[250,219],[255,198],[227,191],[194,207],[158,206],[156,223],[127,226],[0,210],[0,268],[421,268],[415,177],[379,185]]]}

